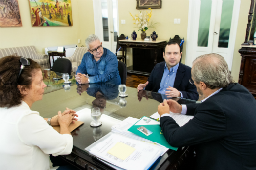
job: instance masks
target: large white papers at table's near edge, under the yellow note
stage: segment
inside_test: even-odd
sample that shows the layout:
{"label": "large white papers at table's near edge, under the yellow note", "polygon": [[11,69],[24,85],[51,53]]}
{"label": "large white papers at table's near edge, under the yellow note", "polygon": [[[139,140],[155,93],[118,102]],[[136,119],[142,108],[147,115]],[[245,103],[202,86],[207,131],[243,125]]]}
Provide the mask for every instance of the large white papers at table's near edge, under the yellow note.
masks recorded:
{"label": "large white papers at table's near edge, under the yellow note", "polygon": [[[107,152],[115,146],[117,142],[127,144],[135,148],[135,151],[125,160],[118,159],[108,154]],[[107,138],[103,139],[101,142],[97,142],[88,151],[100,159],[128,170],[146,170],[160,157],[159,146],[147,142],[140,142],[117,133],[110,133]]]}

